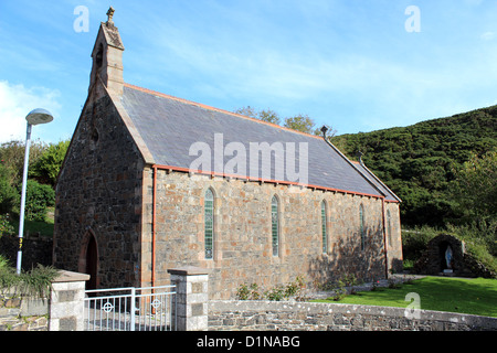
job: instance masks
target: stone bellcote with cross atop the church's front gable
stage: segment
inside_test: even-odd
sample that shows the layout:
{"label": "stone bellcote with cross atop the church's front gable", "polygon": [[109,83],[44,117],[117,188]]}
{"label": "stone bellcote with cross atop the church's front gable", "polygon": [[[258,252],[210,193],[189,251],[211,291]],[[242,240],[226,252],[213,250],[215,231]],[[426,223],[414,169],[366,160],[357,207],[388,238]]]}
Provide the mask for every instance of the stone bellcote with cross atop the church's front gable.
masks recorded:
{"label": "stone bellcote with cross atop the church's front gable", "polygon": [[[123,52],[124,45],[120,40],[119,31],[113,21],[114,9],[107,12],[107,22],[102,22],[95,46],[92,52],[93,66],[89,78],[89,92],[98,81],[107,87],[110,94],[123,95]],[[103,92],[96,85],[96,96]]]}

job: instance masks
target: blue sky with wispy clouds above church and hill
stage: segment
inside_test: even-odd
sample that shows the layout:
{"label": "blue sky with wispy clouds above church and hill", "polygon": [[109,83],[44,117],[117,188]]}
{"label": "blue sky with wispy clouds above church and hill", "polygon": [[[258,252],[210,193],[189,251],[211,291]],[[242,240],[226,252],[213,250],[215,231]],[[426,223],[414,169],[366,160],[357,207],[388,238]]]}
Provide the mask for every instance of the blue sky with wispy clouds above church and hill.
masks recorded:
{"label": "blue sky with wispy clouds above church and hill", "polygon": [[0,142],[23,139],[38,107],[55,120],[35,138],[71,138],[109,6],[127,83],[218,108],[307,114],[341,135],[497,104],[494,0],[0,0]]}

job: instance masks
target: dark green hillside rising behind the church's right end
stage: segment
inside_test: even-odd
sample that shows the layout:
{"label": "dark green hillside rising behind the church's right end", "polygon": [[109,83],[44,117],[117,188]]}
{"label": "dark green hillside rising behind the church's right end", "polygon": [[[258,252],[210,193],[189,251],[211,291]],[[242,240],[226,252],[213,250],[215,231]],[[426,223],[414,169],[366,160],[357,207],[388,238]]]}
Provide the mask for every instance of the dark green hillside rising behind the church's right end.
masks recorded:
{"label": "dark green hillside rising behind the church's right end", "polygon": [[362,160],[402,199],[402,223],[442,226],[456,220],[450,190],[473,153],[497,149],[497,106],[403,128],[341,135],[331,142]]}

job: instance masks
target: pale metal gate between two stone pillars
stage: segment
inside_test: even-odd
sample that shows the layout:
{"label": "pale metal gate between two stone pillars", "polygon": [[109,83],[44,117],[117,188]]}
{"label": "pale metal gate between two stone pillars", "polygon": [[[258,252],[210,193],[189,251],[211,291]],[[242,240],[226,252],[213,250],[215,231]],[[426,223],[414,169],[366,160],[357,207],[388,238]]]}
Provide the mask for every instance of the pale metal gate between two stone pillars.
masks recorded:
{"label": "pale metal gate between two stone pillars", "polygon": [[176,286],[85,291],[85,331],[172,331]]}

